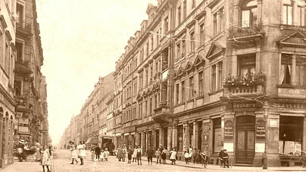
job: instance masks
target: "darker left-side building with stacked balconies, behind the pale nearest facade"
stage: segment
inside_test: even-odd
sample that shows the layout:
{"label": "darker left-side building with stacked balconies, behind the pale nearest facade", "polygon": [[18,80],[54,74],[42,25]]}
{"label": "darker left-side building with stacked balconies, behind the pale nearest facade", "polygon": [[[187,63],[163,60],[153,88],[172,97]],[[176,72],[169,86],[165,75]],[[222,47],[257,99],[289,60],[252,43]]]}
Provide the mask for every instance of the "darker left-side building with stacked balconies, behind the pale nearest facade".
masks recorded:
{"label": "darker left-side building with stacked balconies, behind the pale nearest facade", "polygon": [[[41,142],[47,131],[45,122],[46,104],[42,103],[41,84],[44,77],[40,72],[43,52],[37,23],[36,2],[20,0],[16,7],[16,62],[14,90],[16,101],[16,138],[33,146]],[[42,88],[45,91],[45,88]],[[46,96],[46,93],[43,93]],[[45,107],[43,107],[45,106]],[[18,140],[18,139],[16,139]]]}

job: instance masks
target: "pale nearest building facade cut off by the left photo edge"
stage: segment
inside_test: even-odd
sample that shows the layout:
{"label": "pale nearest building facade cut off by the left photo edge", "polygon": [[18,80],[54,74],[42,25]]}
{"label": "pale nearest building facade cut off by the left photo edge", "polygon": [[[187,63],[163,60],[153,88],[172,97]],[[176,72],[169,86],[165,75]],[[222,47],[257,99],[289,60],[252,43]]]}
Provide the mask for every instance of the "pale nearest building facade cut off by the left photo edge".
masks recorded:
{"label": "pale nearest building facade cut off by the left photo edge", "polygon": [[15,1],[0,2],[0,168],[13,163]]}

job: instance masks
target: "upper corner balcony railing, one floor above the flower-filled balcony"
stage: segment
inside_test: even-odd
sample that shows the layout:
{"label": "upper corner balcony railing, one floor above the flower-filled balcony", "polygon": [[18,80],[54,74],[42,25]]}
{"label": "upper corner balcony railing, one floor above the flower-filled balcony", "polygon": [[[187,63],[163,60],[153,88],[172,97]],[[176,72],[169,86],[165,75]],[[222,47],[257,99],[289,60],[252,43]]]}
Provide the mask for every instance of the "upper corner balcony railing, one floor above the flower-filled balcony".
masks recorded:
{"label": "upper corner balcony railing, one floor above the flower-filled balcony", "polygon": [[233,23],[229,28],[230,37],[246,36],[263,33],[263,22],[258,21],[240,21]]}

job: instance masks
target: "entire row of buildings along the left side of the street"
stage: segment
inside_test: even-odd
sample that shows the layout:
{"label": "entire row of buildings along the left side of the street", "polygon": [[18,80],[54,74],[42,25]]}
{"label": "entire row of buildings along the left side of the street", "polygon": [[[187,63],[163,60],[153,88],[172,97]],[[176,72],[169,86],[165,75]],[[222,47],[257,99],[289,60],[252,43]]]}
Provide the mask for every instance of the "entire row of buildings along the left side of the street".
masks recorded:
{"label": "entire row of buildings along the left side of the street", "polygon": [[47,92],[35,0],[0,1],[0,168],[19,141],[49,144]]}

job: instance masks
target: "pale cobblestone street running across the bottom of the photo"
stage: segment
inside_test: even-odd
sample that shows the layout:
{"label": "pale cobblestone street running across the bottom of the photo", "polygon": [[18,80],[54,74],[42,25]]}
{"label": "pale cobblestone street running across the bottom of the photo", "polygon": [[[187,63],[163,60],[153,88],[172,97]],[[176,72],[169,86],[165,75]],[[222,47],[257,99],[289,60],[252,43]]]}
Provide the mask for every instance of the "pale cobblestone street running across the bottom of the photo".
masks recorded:
{"label": "pale cobblestone street running across the bottom of the photo", "polygon": [[[87,151],[87,159],[84,165],[70,164],[70,154],[68,150],[57,150],[55,152],[55,159],[52,161],[51,171],[305,171],[305,168],[300,167],[270,167],[268,170],[262,170],[260,167],[238,167],[233,168],[220,168],[218,165],[208,165],[208,168],[200,168],[200,164],[186,165],[183,161],[177,161],[176,165],[160,165],[153,162],[152,166],[143,160],[142,165],[132,162],[127,164],[119,162],[115,156],[110,156],[108,162],[92,162],[90,160],[90,152]],[[145,159],[146,157],[143,157]],[[127,159],[127,158],[126,158]],[[167,160],[169,163],[170,161]],[[42,167],[38,162],[18,162],[15,161],[12,165],[0,170],[4,171],[42,171]]]}

